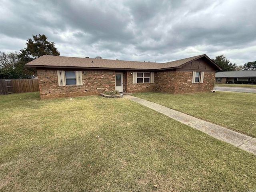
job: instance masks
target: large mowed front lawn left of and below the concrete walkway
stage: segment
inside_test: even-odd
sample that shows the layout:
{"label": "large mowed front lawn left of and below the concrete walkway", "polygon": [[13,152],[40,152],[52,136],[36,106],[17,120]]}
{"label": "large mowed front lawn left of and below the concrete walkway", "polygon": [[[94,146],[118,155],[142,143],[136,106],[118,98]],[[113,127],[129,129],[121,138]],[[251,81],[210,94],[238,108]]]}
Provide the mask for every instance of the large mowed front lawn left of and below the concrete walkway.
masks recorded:
{"label": "large mowed front lawn left of and below the concrete walkway", "polygon": [[0,96],[1,192],[253,191],[255,164],[125,98]]}

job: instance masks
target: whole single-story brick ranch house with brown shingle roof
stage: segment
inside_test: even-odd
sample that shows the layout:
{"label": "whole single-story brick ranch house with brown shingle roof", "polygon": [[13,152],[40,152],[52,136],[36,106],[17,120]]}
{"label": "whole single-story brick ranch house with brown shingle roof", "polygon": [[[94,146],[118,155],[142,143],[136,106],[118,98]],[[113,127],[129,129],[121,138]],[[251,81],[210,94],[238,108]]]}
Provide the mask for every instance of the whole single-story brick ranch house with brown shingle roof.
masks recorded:
{"label": "whole single-story brick ranch house with brown shingle roof", "polygon": [[42,99],[119,92],[208,92],[216,70],[208,56],[167,63],[44,55],[26,64],[36,67]]}

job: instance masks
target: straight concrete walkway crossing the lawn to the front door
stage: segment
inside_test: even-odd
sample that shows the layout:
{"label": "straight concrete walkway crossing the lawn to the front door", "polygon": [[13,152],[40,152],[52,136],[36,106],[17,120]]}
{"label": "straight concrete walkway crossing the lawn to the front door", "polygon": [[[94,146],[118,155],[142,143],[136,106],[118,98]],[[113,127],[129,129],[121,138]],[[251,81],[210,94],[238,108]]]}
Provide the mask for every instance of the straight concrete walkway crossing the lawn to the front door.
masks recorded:
{"label": "straight concrete walkway crossing the lawn to the front door", "polygon": [[254,153],[256,155],[256,138],[252,138],[250,136],[232,131],[230,129],[218,126],[216,124],[206,122],[204,120],[192,117],[190,115],[172,110],[165,106],[162,106],[144,99],[140,99],[130,95],[124,95],[124,98],[128,98],[144,106],[147,106],[168,117],[171,117],[175,120],[178,120],[179,122],[182,122],[210,136],[213,136],[214,138],[225,141],[229,144],[232,144],[236,147],[239,147],[243,150]]}

